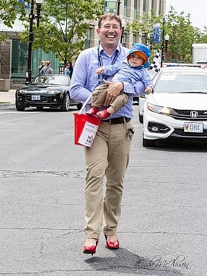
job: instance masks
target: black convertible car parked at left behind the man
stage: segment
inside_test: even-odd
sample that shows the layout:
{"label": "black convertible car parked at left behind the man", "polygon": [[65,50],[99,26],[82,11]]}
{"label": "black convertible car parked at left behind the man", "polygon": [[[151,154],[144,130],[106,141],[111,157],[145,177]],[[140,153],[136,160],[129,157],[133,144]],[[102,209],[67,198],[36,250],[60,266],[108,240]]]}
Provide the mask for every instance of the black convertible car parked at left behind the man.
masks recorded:
{"label": "black convertible car parked at left behind the man", "polygon": [[70,106],[81,109],[82,103],[70,98],[70,77],[66,75],[38,75],[28,84],[18,88],[15,93],[15,104],[18,111],[25,108],[44,107],[60,108],[68,111]]}

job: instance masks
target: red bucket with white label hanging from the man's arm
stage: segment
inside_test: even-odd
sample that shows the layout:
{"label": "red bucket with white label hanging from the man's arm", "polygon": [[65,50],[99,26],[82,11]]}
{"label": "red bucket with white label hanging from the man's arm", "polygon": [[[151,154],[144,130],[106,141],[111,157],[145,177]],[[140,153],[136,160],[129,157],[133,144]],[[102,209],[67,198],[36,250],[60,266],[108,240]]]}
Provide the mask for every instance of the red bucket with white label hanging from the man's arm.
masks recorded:
{"label": "red bucket with white label hanging from the man's arm", "polygon": [[74,143],[79,146],[92,146],[101,119],[86,114],[74,115]]}

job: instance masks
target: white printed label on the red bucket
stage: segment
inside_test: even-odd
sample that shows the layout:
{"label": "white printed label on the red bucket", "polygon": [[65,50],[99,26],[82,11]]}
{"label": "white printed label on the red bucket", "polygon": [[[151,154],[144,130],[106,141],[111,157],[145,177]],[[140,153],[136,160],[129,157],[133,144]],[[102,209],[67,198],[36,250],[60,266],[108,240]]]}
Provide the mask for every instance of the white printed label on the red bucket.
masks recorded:
{"label": "white printed label on the red bucket", "polygon": [[81,136],[79,137],[79,144],[91,147],[98,128],[99,126],[96,126],[86,121],[85,125],[83,126]]}

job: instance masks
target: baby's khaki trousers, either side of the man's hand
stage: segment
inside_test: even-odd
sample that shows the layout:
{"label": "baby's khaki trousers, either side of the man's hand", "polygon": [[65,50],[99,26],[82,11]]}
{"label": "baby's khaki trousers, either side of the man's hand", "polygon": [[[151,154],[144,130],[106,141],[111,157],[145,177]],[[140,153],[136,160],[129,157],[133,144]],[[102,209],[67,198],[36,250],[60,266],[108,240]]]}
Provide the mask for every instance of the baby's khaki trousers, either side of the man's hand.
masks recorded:
{"label": "baby's khaki trousers, either side of the man's hand", "polygon": [[[106,99],[108,84],[101,84],[97,86],[95,90],[92,92],[92,106],[97,108],[101,108]],[[121,92],[117,97],[115,97],[114,101],[110,103],[115,111],[117,112],[128,102],[128,95],[126,93]]]}

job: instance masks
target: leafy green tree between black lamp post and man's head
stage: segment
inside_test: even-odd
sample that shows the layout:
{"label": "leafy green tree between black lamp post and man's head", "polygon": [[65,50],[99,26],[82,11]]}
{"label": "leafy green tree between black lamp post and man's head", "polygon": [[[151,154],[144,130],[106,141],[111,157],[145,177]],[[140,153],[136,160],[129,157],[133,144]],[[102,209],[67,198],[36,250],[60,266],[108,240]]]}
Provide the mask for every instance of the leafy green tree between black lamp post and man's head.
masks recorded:
{"label": "leafy green tree between black lamp post and man's head", "polygon": [[[46,0],[39,28],[34,26],[34,48],[54,52],[66,64],[83,50],[90,24],[103,14],[103,0]],[[28,41],[27,31],[21,34]]]}

